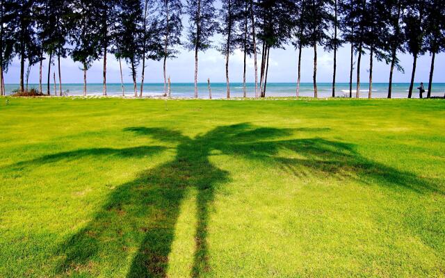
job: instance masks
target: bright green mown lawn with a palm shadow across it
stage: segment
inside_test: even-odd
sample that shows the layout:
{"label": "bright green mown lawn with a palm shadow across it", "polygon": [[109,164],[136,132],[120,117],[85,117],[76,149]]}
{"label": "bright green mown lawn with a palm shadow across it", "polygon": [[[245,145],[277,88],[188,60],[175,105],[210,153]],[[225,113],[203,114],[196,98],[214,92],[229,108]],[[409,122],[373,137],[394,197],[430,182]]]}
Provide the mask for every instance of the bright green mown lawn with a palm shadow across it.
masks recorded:
{"label": "bright green mown lawn with a palm shadow across it", "polygon": [[0,277],[444,277],[445,101],[0,98]]}

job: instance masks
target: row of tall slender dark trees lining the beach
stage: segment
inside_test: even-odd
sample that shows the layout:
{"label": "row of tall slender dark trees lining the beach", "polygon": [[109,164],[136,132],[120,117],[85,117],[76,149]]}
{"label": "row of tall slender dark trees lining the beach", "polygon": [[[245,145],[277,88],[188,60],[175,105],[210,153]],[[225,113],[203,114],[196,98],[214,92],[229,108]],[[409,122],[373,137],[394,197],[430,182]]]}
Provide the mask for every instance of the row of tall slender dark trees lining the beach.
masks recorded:
{"label": "row of tall slender dark trees lining the beach", "polygon": [[[57,66],[55,93],[61,95],[60,59],[67,56],[81,64],[84,94],[88,69],[95,60],[103,59],[106,95],[108,54],[113,54],[120,63],[121,81],[122,60],[129,66],[135,97],[143,95],[146,60],[162,60],[164,90],[168,94],[167,60],[175,58],[180,47],[185,47],[195,52],[197,97],[198,54],[216,47],[225,56],[227,98],[230,97],[229,58],[236,49],[244,56],[244,96],[246,57],[254,56],[255,97],[264,97],[270,49],[293,45],[298,56],[296,96],[300,93],[302,49],[311,48],[314,97],[317,97],[317,50],[323,47],[332,51],[334,57],[332,97],[335,97],[337,51],[344,44],[350,47],[349,97],[353,97],[353,90],[355,97],[360,96],[360,70],[366,53],[370,56],[369,98],[374,59],[389,65],[388,97],[391,98],[394,69],[403,71],[398,54],[405,52],[413,57],[408,97],[412,97],[416,61],[424,54],[431,56],[427,97],[431,95],[435,56],[445,50],[445,0],[221,1],[222,8],[217,10],[214,0],[0,0],[1,95],[5,95],[3,74],[15,57],[20,63],[20,91],[27,90],[31,67],[38,64],[40,92],[46,90],[50,94],[51,66]],[[189,23],[185,40],[181,37],[183,15],[188,16]],[[212,42],[216,33],[223,38],[218,45]],[[44,63],[48,65],[47,88],[42,88]],[[140,88],[136,85],[138,79]]]}

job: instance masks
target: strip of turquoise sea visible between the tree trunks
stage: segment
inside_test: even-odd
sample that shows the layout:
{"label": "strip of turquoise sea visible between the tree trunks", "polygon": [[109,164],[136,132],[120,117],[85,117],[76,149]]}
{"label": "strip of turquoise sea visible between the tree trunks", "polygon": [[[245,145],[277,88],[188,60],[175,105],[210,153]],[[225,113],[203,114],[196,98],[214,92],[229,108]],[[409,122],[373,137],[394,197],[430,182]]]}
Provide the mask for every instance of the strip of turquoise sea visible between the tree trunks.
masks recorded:
{"label": "strip of turquoise sea visible between the tree trunks", "polygon": [[[318,83],[318,97],[330,97],[332,94],[331,83]],[[419,97],[419,90],[416,90],[419,84],[414,84],[413,97]],[[18,84],[6,84],[5,89],[7,94],[10,94],[13,90],[19,87]],[[254,83],[247,83],[247,95],[248,97],[254,97]],[[29,84],[29,88],[38,88],[38,84]],[[51,95],[54,95],[54,84],[50,85]],[[172,83],[171,95],[172,97],[193,97],[194,94],[193,83]],[[360,97],[368,97],[369,83],[361,83],[360,85]],[[405,98],[408,95],[409,83],[393,83],[394,98]],[[425,85],[427,90],[428,85]],[[58,85],[57,85],[58,90]],[[83,95],[83,84],[62,84],[62,90],[65,95]],[[138,90],[140,90],[140,84],[138,84]],[[43,86],[43,91],[46,92],[46,86]],[[87,95],[100,96],[102,95],[102,83],[90,83],[87,84]],[[353,97],[355,97],[356,85],[353,84]],[[387,83],[373,83],[373,98],[385,98],[387,97],[388,84]],[[58,92],[59,93],[59,92]],[[127,97],[133,96],[133,83],[124,83],[124,93]],[[211,93],[213,99],[226,98],[226,83],[211,83]],[[120,83],[107,84],[107,94],[110,96],[122,95],[122,87]],[[144,96],[161,97],[163,95],[163,83],[145,83],[144,84]],[[337,83],[336,96],[347,97],[349,95],[349,83]],[[423,94],[424,97],[426,93]],[[432,86],[432,96],[443,97],[445,95],[445,83],[434,83]],[[243,97],[243,83],[231,83],[230,84],[230,96],[231,97]],[[295,97],[296,96],[296,83],[267,83],[266,97]],[[312,83],[300,84],[300,96],[313,97],[314,88]],[[207,83],[198,83],[198,97],[202,99],[209,98],[209,90]]]}

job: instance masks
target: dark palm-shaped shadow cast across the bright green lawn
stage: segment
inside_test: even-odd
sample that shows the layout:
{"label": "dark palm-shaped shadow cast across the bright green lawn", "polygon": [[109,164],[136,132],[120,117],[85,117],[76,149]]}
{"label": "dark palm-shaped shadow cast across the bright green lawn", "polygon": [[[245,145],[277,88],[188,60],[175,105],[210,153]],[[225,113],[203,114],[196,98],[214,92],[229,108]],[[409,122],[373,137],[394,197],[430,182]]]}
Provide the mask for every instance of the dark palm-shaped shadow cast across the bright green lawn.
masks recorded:
{"label": "dark palm-shaped shadow cast across the bright green lawn", "polygon": [[[190,275],[204,275],[209,269],[209,207],[215,189],[229,182],[229,172],[218,169],[209,161],[209,156],[214,155],[213,150],[273,166],[281,165],[284,170],[302,178],[305,174],[348,177],[364,183],[378,181],[382,186],[414,190],[416,193],[442,193],[434,183],[369,161],[357,154],[350,144],[323,138],[280,140],[295,132],[311,131],[307,129],[271,129],[235,124],[216,127],[195,138],[159,128],[131,127],[124,131],[174,142],[177,144],[176,156],[172,161],[141,172],[133,181],[118,186],[95,218],[60,246],[58,256],[63,259],[56,270],[58,273],[90,272],[95,275],[98,274],[95,271],[101,269],[100,265],[95,264],[104,262],[122,270],[127,268],[130,259],[127,277],[166,277],[179,206],[186,191],[195,188],[197,227]],[[138,148],[145,151],[145,148],[149,148],[153,153],[162,150],[161,147]],[[110,149],[109,152],[104,149],[97,152],[81,150],[78,155],[72,156],[79,158],[95,153],[140,156],[134,152],[138,148]],[[282,157],[281,151],[298,154],[298,158]],[[40,161],[54,162],[65,156],[66,153],[45,156]],[[26,163],[19,163],[19,166],[25,167]]]}

